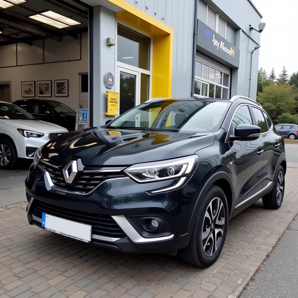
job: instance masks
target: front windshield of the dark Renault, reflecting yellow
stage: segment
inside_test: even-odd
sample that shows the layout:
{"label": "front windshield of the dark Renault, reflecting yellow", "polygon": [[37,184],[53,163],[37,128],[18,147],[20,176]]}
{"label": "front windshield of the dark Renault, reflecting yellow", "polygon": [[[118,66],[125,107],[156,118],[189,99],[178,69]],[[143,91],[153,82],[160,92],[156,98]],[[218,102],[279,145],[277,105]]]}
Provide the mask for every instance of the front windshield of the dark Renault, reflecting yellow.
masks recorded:
{"label": "front windshield of the dark Renault, reflecting yellow", "polygon": [[229,103],[214,100],[164,100],[132,108],[108,128],[213,132],[226,115]]}

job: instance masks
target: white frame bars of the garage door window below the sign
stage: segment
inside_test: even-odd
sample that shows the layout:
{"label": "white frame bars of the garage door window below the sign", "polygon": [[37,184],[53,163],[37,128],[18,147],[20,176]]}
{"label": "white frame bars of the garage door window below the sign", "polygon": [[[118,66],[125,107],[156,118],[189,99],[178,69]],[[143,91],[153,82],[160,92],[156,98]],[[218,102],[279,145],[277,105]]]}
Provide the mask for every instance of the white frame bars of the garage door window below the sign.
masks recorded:
{"label": "white frame bars of the garage door window below the sign", "polygon": [[[200,82],[201,83],[201,88],[200,88],[200,94],[194,94],[194,96],[199,96],[199,97],[209,97],[209,84],[211,83],[211,84],[213,84],[213,85],[215,85],[215,87],[214,87],[214,97],[212,97],[212,98],[215,98],[215,99],[218,99],[218,98],[216,98],[215,97],[215,89],[216,89],[216,86],[219,86],[219,87],[221,87],[221,97],[219,97],[219,98],[222,98],[222,94],[223,94],[223,88],[225,88],[225,89],[228,89],[228,98],[229,98],[229,94],[230,94],[230,84],[231,84],[231,74],[229,74],[229,73],[227,73],[226,71],[223,71],[223,70],[221,70],[221,69],[219,69],[219,68],[217,68],[216,66],[213,66],[213,65],[211,65],[211,64],[209,64],[209,63],[205,63],[205,62],[203,62],[203,61],[201,61],[201,60],[199,60],[199,59],[195,59],[197,62],[200,62],[201,64],[202,64],[202,68],[201,68],[201,75],[202,75],[202,77],[198,77],[198,76],[196,76],[195,75],[195,81],[197,81],[197,82]],[[207,80],[207,79],[204,79],[203,78],[203,67],[204,67],[204,64],[205,65],[207,65],[208,67],[209,67],[209,74],[208,74],[208,76],[209,76],[209,80]],[[216,83],[216,78],[214,79],[214,81],[211,81],[210,80],[210,67],[212,67],[213,69],[215,69],[215,75],[216,75],[216,71],[218,70],[219,72],[222,72],[223,74],[225,73],[226,75],[228,75],[229,76],[229,81],[228,81],[228,86],[225,86],[225,85],[223,85],[223,84],[219,84],[219,83]],[[222,83],[223,83],[223,75],[222,75]],[[204,96],[204,95],[201,95],[202,94],[202,83],[205,83],[205,84],[207,84],[207,96]]]}

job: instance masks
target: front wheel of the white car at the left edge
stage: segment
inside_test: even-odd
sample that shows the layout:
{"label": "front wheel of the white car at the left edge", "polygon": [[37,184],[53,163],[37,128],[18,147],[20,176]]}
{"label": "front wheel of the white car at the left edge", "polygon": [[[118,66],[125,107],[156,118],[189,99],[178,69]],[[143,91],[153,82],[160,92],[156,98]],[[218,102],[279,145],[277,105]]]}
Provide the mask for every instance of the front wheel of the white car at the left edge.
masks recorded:
{"label": "front wheel of the white car at the left edge", "polygon": [[16,167],[18,160],[15,144],[7,139],[0,140],[0,169],[11,170]]}

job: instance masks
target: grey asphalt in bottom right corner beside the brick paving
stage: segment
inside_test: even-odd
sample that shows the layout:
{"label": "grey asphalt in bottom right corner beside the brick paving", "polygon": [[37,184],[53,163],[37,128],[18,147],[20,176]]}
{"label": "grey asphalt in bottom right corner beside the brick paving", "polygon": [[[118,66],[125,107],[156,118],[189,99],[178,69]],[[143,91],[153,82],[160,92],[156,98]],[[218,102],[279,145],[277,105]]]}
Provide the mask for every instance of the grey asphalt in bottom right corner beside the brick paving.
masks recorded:
{"label": "grey asphalt in bottom right corner beside the brick paving", "polygon": [[271,257],[263,263],[263,270],[255,275],[240,298],[294,298],[298,288],[298,220],[273,249]]}

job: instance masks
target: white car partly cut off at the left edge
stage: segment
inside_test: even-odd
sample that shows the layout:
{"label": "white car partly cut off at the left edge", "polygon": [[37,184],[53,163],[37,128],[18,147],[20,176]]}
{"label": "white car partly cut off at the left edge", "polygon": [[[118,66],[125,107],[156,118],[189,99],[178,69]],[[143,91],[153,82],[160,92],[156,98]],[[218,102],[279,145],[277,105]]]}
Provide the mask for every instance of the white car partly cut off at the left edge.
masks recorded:
{"label": "white car partly cut off at the left edge", "polygon": [[32,159],[35,151],[66,128],[38,120],[26,111],[0,101],[0,169],[12,169],[18,158]]}

